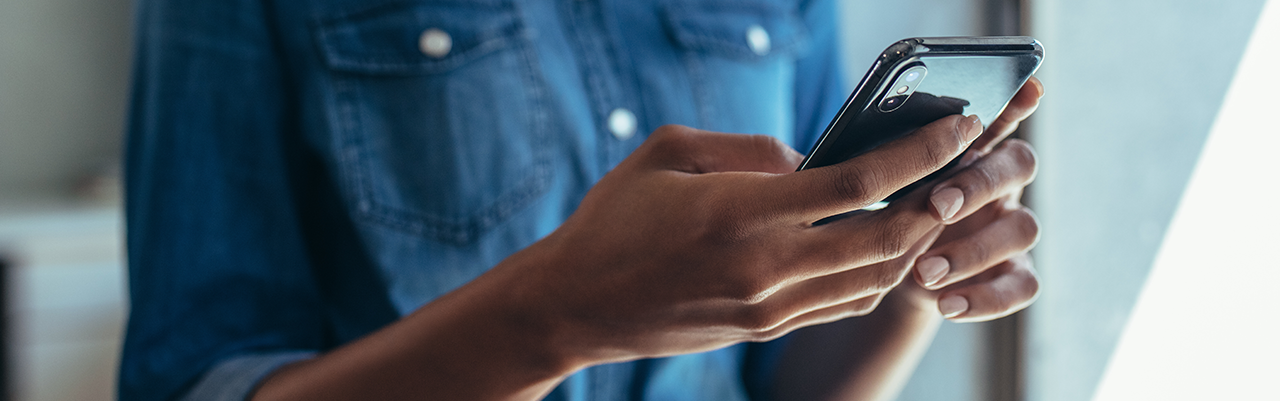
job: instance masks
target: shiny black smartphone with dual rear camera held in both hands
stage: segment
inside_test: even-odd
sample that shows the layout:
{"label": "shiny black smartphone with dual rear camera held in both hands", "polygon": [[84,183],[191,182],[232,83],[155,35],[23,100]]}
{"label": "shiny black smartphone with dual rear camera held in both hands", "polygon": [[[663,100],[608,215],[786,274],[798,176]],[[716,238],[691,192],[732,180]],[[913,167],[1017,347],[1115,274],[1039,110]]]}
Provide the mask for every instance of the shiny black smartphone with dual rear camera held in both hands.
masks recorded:
{"label": "shiny black smartphone with dual rear camera held in both hands", "polygon": [[[1025,36],[901,40],[876,59],[799,169],[849,160],[951,114],[977,114],[986,127],[1043,59],[1039,41]],[[959,159],[877,205],[937,178]]]}

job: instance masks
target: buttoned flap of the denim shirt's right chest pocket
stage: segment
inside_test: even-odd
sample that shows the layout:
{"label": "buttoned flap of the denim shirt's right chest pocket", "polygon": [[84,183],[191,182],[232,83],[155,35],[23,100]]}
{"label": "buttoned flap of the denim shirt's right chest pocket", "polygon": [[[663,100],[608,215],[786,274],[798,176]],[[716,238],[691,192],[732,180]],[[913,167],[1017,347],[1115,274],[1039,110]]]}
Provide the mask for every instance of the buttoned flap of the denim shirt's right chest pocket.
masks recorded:
{"label": "buttoned flap of the denim shirt's right chest pocket", "polygon": [[764,1],[672,1],[667,32],[689,50],[736,59],[803,53],[808,32],[796,10]]}

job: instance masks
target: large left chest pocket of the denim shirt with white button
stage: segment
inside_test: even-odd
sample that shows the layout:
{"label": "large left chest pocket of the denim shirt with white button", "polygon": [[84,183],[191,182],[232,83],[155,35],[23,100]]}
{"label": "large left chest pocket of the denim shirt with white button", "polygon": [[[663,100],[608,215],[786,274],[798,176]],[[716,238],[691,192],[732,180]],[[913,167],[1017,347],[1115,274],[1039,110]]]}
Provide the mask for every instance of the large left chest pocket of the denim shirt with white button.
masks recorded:
{"label": "large left chest pocket of the denim shirt with white button", "polygon": [[512,3],[398,3],[315,32],[356,215],[467,245],[547,191],[547,91]]}

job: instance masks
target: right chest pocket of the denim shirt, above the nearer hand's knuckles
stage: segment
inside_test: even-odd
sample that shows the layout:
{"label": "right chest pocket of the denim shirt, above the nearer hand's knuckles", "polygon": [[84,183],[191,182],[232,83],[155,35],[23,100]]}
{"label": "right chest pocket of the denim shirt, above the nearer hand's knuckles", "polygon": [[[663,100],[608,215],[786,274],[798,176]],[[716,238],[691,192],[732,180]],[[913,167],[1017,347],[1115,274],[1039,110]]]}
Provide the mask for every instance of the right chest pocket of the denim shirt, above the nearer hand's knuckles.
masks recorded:
{"label": "right chest pocket of the denim shirt, above the nearer hand's knuckles", "polygon": [[795,61],[809,36],[792,0],[667,1],[668,37],[694,85],[701,128],[794,136]]}

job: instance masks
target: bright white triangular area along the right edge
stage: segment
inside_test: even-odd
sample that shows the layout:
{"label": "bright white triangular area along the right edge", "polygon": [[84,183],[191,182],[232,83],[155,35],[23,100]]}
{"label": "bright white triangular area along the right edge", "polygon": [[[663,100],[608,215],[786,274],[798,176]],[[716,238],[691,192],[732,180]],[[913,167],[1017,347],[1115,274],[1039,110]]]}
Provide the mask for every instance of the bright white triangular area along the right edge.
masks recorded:
{"label": "bright white triangular area along the right edge", "polygon": [[1271,0],[1094,400],[1280,400],[1277,65]]}

